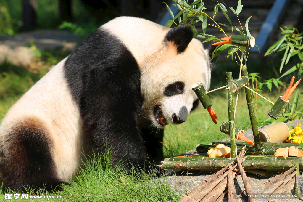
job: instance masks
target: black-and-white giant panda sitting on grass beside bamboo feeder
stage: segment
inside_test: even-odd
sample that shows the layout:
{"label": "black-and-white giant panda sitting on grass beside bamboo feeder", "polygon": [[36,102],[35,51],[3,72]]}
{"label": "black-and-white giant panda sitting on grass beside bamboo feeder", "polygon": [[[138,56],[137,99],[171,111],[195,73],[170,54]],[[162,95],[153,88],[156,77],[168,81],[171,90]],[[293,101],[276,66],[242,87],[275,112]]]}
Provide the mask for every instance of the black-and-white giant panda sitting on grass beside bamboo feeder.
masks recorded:
{"label": "black-and-white giant panda sitting on grass beside bamboo feeder", "polygon": [[[118,17],[102,25],[7,112],[0,126],[0,184],[68,183],[85,155],[110,148],[113,163],[142,168],[163,158],[163,130],[210,86],[208,50],[186,25]],[[133,164],[133,165],[132,165]]]}

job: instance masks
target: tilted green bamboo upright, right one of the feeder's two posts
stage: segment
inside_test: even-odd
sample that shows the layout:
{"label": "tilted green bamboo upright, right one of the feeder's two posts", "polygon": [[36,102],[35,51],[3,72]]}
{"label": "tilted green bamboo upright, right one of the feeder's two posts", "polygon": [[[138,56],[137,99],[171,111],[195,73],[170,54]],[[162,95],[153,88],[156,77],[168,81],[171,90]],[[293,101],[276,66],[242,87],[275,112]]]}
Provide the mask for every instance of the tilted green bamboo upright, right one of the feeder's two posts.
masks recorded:
{"label": "tilted green bamboo upright, right one of the feeder's two posts", "polygon": [[[243,73],[243,76],[248,76],[246,66],[242,67],[242,73]],[[250,88],[249,83],[247,86]],[[256,119],[256,115],[255,115],[254,103],[252,102],[252,93],[250,90],[245,88],[245,94],[246,94],[246,101],[247,101],[247,106],[248,106],[250,122],[251,122],[251,129],[252,129],[252,133],[254,134],[255,147],[258,149],[258,148],[260,148],[261,141],[260,141],[260,136],[259,136],[259,131],[258,131],[257,119]]]}

